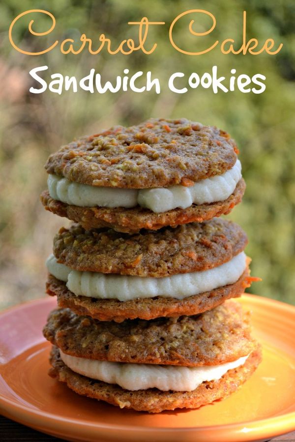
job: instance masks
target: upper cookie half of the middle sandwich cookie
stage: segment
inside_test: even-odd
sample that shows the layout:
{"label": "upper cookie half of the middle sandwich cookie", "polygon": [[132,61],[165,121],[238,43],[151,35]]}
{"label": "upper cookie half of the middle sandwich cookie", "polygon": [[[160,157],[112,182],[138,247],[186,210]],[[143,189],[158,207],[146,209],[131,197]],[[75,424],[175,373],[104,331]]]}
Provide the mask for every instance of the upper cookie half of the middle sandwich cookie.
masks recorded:
{"label": "upper cookie half of the middle sandwich cookie", "polygon": [[155,232],[127,235],[114,230],[61,228],[54,255],[71,269],[105,274],[163,277],[200,272],[244,250],[245,232],[236,223],[213,219]]}

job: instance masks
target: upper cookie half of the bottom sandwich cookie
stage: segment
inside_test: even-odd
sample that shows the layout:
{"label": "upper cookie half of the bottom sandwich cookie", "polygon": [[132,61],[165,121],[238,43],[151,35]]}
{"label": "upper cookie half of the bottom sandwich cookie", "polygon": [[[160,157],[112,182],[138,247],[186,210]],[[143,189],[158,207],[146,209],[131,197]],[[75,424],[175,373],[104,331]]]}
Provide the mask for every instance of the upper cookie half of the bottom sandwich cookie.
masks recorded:
{"label": "upper cookie half of the bottom sandwich cookie", "polygon": [[102,322],[69,308],[51,312],[44,336],[87,359],[170,365],[218,365],[254,348],[249,313],[230,300],[197,316]]}

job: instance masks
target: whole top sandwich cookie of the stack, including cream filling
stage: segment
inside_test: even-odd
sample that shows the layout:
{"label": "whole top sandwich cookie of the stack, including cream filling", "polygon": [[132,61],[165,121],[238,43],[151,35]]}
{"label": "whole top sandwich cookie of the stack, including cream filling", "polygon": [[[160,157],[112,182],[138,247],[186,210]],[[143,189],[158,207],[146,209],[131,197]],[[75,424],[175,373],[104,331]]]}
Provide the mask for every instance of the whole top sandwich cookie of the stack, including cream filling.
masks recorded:
{"label": "whole top sandwich cookie of the stack, including cream filling", "polygon": [[41,200],[86,229],[132,233],[202,222],[241,201],[237,153],[226,132],[185,118],[116,126],[52,154]]}

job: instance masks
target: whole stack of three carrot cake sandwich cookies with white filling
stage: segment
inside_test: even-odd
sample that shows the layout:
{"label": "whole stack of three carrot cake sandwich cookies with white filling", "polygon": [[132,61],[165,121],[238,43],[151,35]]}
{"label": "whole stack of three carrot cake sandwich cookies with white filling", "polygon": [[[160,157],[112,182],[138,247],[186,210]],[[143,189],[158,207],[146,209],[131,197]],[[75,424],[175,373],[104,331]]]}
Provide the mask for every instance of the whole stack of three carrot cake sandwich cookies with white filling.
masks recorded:
{"label": "whole stack of three carrot cake sandwich cookies with white filling", "polygon": [[186,119],[81,138],[46,163],[61,228],[49,374],[79,394],[151,413],[228,396],[261,360],[249,313],[247,237],[229,213],[245,190],[235,142]]}

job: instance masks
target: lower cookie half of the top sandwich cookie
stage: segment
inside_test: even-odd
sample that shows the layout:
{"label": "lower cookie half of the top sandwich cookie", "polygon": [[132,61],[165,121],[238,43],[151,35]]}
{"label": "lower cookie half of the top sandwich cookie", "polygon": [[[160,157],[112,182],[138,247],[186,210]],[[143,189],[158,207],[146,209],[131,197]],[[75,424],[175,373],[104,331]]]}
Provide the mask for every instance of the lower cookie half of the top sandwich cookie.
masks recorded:
{"label": "lower cookie half of the top sandwich cookie", "polygon": [[136,206],[133,209],[118,207],[78,207],[70,206],[51,198],[48,191],[41,193],[41,202],[46,210],[79,222],[84,228],[112,227],[118,232],[134,233],[141,229],[158,230],[163,226],[176,227],[188,222],[203,222],[213,217],[227,215],[236,204],[240,203],[245,192],[245,182],[241,179],[235,191],[225,200],[210,204],[193,204],[186,209],[173,209],[163,213],[153,213],[151,210]]}

